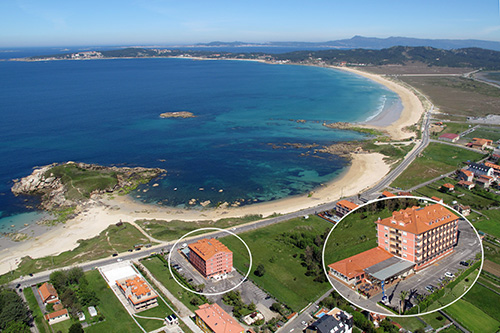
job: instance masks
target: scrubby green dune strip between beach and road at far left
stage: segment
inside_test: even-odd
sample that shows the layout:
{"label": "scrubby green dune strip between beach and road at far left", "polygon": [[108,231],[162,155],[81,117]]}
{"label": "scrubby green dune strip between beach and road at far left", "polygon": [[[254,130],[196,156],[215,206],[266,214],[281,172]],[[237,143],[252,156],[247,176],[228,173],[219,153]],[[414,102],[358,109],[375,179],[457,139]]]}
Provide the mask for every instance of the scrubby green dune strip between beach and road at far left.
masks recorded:
{"label": "scrubby green dune strip between beach and road at far left", "polygon": [[80,245],[74,250],[63,252],[57,256],[39,259],[24,257],[19,268],[14,273],[7,273],[0,277],[0,283],[5,283],[29,273],[64,267],[92,259],[105,258],[111,256],[113,253],[125,252],[127,249],[132,249],[135,244],[149,243],[149,240],[133,225],[123,223],[120,227],[109,226],[99,236],[81,240],[79,243]]}

